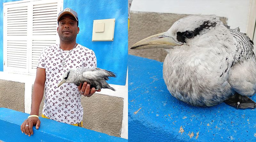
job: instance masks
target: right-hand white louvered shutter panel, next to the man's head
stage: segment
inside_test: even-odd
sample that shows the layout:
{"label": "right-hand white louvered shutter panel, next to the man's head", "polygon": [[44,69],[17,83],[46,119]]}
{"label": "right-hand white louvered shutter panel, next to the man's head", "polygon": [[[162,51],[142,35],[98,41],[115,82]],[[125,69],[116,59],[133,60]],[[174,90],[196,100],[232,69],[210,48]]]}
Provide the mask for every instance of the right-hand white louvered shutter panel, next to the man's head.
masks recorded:
{"label": "right-hand white louvered shutter panel, next to the man's head", "polygon": [[[46,3],[47,2],[47,3]],[[61,11],[57,0],[32,2],[32,48],[29,72],[36,72],[39,55],[45,46],[59,43],[57,16]]]}

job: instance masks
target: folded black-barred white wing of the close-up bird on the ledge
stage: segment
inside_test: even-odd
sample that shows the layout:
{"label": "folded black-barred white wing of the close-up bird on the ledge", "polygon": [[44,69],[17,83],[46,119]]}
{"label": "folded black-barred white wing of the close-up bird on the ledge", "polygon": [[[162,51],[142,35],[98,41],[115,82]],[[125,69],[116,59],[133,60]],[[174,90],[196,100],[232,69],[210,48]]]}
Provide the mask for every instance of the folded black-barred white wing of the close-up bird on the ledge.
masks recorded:
{"label": "folded black-barred white wing of the close-up bird on the ledge", "polygon": [[234,62],[229,70],[228,83],[241,95],[253,95],[256,92],[256,59],[253,42],[236,30],[230,30],[235,42]]}

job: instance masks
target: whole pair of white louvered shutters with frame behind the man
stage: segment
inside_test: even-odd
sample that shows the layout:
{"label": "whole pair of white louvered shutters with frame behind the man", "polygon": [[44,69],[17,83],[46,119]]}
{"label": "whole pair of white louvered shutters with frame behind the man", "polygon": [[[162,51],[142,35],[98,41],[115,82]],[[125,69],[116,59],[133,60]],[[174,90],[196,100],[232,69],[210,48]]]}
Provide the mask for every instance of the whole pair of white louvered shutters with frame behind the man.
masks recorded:
{"label": "whole pair of white louvered shutters with frame behind the man", "polygon": [[43,48],[59,43],[63,0],[19,2],[4,4],[4,71],[35,74]]}

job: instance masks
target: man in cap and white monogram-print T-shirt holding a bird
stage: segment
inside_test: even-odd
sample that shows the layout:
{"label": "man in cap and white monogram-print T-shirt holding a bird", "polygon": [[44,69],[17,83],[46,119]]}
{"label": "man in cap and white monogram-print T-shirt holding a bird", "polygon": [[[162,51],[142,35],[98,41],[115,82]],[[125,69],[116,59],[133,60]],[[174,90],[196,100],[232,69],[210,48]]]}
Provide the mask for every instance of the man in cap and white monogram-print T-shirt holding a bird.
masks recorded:
{"label": "man in cap and white monogram-print T-shirt holding a bird", "polygon": [[28,136],[33,134],[33,125],[36,125],[36,129],[40,126],[38,114],[43,94],[45,96],[43,118],[82,127],[81,94],[90,97],[96,92],[95,88],[90,91],[90,84],[86,82],[78,87],[69,83],[57,87],[61,76],[68,69],[97,66],[94,52],[76,43],[76,35],[79,33],[77,13],[66,8],[59,13],[57,22],[60,44],[45,47],[40,54],[31,113],[20,126],[22,133],[25,132]]}

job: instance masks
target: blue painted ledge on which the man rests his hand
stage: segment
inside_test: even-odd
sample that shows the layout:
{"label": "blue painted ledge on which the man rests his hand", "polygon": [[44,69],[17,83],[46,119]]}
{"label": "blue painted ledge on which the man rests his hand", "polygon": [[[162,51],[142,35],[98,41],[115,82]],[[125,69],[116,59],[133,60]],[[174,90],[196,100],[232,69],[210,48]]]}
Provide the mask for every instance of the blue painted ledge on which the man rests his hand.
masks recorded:
{"label": "blue painted ledge on which the man rests his hand", "polygon": [[81,127],[72,126],[65,123],[56,122],[39,117],[41,125],[38,130],[33,127],[34,134],[22,134],[20,131],[21,123],[29,114],[18,112],[8,108],[0,108],[0,140],[5,142],[80,142],[80,141],[116,141],[127,142],[127,139],[109,136],[104,133],[87,130]]}

